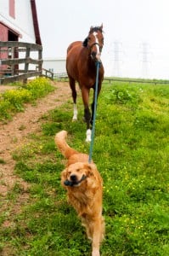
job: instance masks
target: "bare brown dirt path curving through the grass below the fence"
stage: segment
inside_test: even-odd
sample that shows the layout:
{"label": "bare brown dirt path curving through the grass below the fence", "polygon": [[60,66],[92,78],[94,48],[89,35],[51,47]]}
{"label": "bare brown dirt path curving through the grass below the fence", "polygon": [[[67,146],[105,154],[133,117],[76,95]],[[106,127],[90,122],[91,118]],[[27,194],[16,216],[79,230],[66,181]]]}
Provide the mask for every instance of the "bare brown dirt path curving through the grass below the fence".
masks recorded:
{"label": "bare brown dirt path curving through the grass below the fence", "polygon": [[0,195],[5,197],[15,183],[20,183],[24,190],[28,184],[20,177],[14,175],[15,162],[12,151],[25,140],[29,133],[38,131],[40,123],[38,119],[49,110],[60,106],[70,97],[68,83],[56,82],[56,90],[48,96],[37,101],[37,106],[27,105],[24,113],[17,113],[14,119],[7,125],[0,125]]}

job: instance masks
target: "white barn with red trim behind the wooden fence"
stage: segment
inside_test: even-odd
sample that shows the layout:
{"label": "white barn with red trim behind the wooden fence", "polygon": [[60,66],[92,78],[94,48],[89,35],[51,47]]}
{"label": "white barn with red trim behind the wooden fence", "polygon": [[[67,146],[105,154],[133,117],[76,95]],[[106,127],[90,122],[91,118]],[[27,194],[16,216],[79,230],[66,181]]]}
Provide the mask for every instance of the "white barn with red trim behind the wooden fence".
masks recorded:
{"label": "white barn with red trim behind the wooden fence", "polygon": [[[1,0],[0,41],[20,41],[42,45],[36,0]],[[0,52],[0,59],[10,57],[17,57],[17,54]]]}

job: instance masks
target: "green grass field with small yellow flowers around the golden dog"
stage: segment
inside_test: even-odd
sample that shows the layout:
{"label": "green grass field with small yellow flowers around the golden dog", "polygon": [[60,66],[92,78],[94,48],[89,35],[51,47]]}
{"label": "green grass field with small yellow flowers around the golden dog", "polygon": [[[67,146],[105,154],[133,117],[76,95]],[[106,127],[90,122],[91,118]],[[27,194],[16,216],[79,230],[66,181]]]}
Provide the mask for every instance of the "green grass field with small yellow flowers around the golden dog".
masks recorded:
{"label": "green grass field with small yellow flowers around the golden dog", "polygon": [[[8,195],[10,204],[0,217],[0,252],[90,255],[90,242],[60,185],[65,160],[54,145],[55,133],[64,129],[70,146],[89,152],[81,98],[78,104],[78,122],[71,122],[69,100],[42,118],[41,135],[31,134],[15,149],[15,173],[31,184],[30,198],[13,214],[11,207],[24,192],[16,186]],[[93,146],[104,179],[102,256],[169,255],[168,109],[169,84],[103,85]],[[3,227],[5,220],[9,227]]]}

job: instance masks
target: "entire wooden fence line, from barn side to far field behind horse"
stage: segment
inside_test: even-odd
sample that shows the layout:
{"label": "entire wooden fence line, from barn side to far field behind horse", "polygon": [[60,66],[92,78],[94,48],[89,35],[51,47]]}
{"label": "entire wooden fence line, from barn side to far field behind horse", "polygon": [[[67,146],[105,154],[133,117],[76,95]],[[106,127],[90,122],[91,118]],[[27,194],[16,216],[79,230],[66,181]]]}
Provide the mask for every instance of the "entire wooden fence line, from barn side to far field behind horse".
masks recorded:
{"label": "entire wooden fence line, from barn side to far field behind horse", "polygon": [[[31,57],[31,52],[37,52],[37,58]],[[23,56],[25,53],[25,56]],[[20,57],[22,55],[22,57]],[[24,68],[19,68],[19,65]],[[32,66],[35,65],[33,69]],[[67,73],[53,73],[42,68],[42,45],[24,42],[7,41],[0,42],[0,84],[8,84],[18,80],[26,83],[28,78],[45,76],[49,79],[67,81]],[[118,79],[104,78],[109,83],[128,82],[146,84],[169,84],[169,81],[146,80],[146,79]]]}

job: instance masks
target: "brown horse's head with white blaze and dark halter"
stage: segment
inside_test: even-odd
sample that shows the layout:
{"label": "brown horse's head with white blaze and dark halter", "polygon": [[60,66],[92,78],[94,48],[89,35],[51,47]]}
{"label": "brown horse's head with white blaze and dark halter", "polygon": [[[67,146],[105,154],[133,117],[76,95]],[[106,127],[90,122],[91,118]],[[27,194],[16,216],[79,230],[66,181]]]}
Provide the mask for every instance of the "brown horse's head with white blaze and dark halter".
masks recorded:
{"label": "brown horse's head with white blaze and dark halter", "polygon": [[89,49],[93,61],[100,61],[100,55],[104,46],[103,24],[101,26],[91,26],[87,38],[84,40],[84,47]]}

